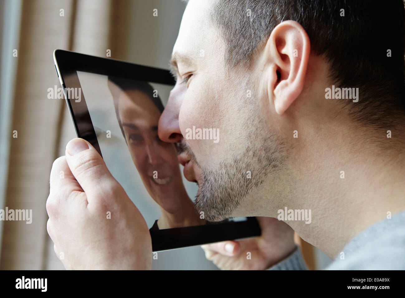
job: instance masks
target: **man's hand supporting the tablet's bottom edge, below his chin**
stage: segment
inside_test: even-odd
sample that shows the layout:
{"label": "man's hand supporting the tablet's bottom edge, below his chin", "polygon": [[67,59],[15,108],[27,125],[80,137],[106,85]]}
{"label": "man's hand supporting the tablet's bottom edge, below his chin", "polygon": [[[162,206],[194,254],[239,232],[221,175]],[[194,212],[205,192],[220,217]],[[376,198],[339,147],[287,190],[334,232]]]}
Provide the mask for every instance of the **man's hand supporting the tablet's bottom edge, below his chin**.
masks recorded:
{"label": "man's hand supporting the tablet's bottom edge, below his chin", "polygon": [[290,255],[295,248],[294,230],[275,218],[257,219],[261,236],[202,245],[205,257],[222,270],[265,270]]}

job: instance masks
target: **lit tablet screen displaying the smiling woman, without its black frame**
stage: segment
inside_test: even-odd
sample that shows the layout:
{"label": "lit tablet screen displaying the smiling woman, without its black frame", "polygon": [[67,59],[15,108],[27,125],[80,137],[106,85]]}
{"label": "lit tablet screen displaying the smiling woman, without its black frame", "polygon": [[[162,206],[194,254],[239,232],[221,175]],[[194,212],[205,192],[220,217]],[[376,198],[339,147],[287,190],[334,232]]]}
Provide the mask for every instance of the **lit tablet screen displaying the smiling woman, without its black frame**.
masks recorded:
{"label": "lit tablet screen displaying the smiling woman, without its black frame", "polygon": [[158,137],[173,86],[83,71],[77,76],[103,159],[149,229],[207,224],[194,209],[198,186],[184,178],[175,144]]}

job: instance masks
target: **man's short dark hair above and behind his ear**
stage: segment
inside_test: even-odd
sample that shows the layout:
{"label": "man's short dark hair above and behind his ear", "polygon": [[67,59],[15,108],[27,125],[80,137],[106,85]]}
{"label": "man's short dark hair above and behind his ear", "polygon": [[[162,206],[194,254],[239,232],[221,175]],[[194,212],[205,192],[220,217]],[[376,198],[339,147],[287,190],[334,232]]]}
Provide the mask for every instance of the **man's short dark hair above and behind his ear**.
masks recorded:
{"label": "man's short dark hair above and behind his ear", "polygon": [[358,103],[342,100],[354,119],[381,128],[404,115],[403,0],[217,0],[210,15],[226,42],[228,67],[249,64],[275,26],[297,21],[311,52],[330,63],[330,78],[359,88]]}

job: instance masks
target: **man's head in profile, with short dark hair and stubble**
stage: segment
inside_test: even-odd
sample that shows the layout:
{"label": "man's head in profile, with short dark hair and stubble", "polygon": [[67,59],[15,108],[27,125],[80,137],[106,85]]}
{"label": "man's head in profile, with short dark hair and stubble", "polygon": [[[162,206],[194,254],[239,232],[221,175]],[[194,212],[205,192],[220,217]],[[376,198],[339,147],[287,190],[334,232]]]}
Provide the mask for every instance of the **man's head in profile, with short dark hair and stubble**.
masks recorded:
{"label": "man's head in profile, with short dark hair and stubble", "polygon": [[[325,137],[403,122],[404,5],[192,0],[171,63],[159,135],[181,142],[197,211],[274,214],[305,189],[302,172],[333,146]],[[326,99],[332,86],[358,88],[358,101]],[[220,142],[183,139],[193,126]]]}

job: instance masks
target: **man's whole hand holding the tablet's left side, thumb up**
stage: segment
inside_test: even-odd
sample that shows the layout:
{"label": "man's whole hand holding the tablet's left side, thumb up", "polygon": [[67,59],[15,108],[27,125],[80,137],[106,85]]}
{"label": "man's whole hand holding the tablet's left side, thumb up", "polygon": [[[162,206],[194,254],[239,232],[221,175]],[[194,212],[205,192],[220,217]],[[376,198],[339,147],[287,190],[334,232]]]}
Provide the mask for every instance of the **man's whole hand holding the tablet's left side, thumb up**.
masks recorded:
{"label": "man's whole hand holding the tablet's left side, thumb up", "polygon": [[66,269],[151,269],[146,222],[90,143],[68,143],[50,184],[47,230]]}

